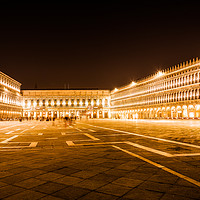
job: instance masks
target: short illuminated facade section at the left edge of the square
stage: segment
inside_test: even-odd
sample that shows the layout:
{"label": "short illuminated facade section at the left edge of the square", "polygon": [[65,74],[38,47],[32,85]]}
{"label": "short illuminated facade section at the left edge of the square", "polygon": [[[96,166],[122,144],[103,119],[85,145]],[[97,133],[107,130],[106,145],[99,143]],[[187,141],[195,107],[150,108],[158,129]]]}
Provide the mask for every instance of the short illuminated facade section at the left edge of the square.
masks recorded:
{"label": "short illuminated facade section at the left edge of the square", "polygon": [[0,120],[21,116],[21,83],[0,72]]}

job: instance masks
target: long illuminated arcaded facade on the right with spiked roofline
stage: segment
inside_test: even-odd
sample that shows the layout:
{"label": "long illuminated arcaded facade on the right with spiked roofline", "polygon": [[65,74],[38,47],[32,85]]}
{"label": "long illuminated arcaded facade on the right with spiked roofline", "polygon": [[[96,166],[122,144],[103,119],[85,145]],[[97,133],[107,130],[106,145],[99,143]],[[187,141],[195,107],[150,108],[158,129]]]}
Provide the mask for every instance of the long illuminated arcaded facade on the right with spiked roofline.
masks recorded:
{"label": "long illuminated arcaded facade on the right with spiked roofline", "polygon": [[200,119],[200,60],[160,71],[111,92],[117,119]]}

